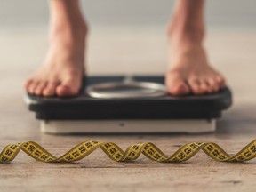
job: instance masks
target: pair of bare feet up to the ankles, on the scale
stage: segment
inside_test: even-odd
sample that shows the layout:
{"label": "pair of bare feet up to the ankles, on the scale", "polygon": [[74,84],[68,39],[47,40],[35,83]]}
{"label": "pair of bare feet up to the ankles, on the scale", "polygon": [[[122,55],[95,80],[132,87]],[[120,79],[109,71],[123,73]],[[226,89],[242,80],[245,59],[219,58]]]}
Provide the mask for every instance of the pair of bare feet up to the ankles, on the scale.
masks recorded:
{"label": "pair of bare feet up to the ankles, on the scale", "polygon": [[[72,96],[79,92],[84,76],[87,27],[84,20],[54,23],[44,65],[28,78],[25,89],[40,96]],[[168,30],[170,58],[165,84],[172,95],[218,92],[225,80],[207,60],[204,29],[180,28],[175,20]]]}

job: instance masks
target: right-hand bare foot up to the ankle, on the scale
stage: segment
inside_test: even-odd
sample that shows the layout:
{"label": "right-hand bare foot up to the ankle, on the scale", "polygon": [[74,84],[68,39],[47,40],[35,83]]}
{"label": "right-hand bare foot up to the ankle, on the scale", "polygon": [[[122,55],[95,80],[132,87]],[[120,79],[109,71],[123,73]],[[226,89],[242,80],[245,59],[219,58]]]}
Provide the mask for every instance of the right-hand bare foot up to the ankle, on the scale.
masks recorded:
{"label": "right-hand bare foot up to the ankle, on the scale", "polygon": [[218,92],[225,86],[225,80],[212,68],[202,45],[204,31],[179,30],[171,28],[170,68],[165,84],[172,95],[206,94]]}

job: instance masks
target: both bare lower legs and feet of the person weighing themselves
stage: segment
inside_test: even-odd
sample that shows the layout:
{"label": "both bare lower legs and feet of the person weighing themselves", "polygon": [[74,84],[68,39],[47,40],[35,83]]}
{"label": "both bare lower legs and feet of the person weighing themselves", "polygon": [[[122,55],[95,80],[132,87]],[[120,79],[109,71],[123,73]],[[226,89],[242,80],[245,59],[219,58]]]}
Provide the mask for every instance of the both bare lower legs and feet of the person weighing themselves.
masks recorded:
{"label": "both bare lower legs and feet of the person weighing themselves", "polygon": [[[84,76],[88,27],[78,0],[51,0],[50,46],[44,65],[25,82],[35,95],[60,97],[79,92]],[[172,95],[218,92],[224,77],[204,51],[204,0],[177,0],[168,25],[169,68],[165,84]]]}

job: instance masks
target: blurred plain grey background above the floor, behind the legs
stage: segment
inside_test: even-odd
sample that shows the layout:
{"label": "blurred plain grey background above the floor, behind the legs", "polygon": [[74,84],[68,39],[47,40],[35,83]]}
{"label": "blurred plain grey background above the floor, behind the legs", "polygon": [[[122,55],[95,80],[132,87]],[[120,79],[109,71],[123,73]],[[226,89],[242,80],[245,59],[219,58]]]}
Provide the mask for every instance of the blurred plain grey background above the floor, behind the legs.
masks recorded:
{"label": "blurred plain grey background above the floor, behind the legs", "polygon": [[[84,0],[84,13],[92,25],[165,25],[172,14],[173,0]],[[255,28],[255,0],[207,1],[209,27]],[[0,0],[0,28],[45,27],[46,0]]]}

